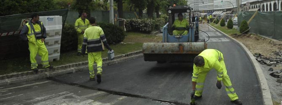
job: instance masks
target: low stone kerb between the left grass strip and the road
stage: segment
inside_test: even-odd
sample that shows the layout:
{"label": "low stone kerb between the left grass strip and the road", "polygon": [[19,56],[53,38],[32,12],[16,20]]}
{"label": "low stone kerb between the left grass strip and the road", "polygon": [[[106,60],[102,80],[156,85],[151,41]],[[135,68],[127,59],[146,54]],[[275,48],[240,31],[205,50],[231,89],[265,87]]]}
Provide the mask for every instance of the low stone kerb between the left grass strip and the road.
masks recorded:
{"label": "low stone kerb between the left grass strip and the road", "polygon": [[[115,60],[108,61],[107,58],[104,58],[103,66],[114,65],[114,64],[126,62],[128,60],[134,60],[139,57],[143,57],[141,50],[131,52],[128,54],[115,56]],[[0,86],[6,86],[6,85],[17,84],[17,83],[28,82],[28,81],[36,81],[47,77],[61,76],[75,72],[88,71],[88,69],[86,69],[87,67],[88,67],[88,61],[85,61],[80,63],[67,64],[63,66],[56,66],[54,67],[53,70],[41,69],[38,71],[38,74],[34,74],[33,71],[25,71],[20,73],[1,75]],[[94,65],[94,69],[96,69],[96,64]]]}

